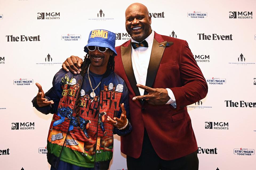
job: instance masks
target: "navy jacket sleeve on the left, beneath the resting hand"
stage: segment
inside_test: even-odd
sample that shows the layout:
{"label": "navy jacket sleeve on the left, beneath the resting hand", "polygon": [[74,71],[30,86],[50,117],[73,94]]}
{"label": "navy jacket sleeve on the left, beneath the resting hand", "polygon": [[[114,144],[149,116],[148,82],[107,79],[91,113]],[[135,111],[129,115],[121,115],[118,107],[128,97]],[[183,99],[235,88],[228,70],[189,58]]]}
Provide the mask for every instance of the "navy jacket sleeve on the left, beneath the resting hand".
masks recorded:
{"label": "navy jacket sleeve on the left, beneath the resting hand", "polygon": [[61,69],[54,75],[53,78],[53,87],[45,93],[45,98],[50,101],[53,100],[54,104],[48,105],[45,107],[39,107],[37,104],[37,96],[32,100],[33,107],[35,107],[39,112],[43,114],[56,113],[58,109],[59,101],[62,97],[62,88],[61,88],[61,78],[66,74],[66,72]]}

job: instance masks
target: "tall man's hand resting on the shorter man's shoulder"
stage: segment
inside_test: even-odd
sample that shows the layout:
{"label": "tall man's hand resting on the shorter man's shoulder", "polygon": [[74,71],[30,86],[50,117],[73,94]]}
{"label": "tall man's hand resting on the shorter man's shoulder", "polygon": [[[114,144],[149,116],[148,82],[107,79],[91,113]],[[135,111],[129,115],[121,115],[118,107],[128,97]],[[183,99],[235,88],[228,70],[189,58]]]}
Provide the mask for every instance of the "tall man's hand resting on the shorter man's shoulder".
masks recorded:
{"label": "tall man's hand resting on the shorter man's shoulder", "polygon": [[80,74],[82,63],[82,58],[71,56],[62,64],[62,69],[66,70],[67,72],[71,71],[74,74]]}

